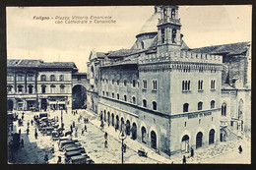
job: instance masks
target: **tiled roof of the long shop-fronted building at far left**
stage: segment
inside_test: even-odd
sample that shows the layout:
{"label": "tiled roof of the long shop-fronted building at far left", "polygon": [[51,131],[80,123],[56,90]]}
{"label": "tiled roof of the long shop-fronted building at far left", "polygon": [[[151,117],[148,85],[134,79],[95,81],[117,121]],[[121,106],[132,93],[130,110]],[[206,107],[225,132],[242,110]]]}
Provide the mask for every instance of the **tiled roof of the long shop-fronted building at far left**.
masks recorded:
{"label": "tiled roof of the long shop-fronted building at far left", "polygon": [[74,62],[43,62],[42,60],[8,59],[7,67],[77,68]]}

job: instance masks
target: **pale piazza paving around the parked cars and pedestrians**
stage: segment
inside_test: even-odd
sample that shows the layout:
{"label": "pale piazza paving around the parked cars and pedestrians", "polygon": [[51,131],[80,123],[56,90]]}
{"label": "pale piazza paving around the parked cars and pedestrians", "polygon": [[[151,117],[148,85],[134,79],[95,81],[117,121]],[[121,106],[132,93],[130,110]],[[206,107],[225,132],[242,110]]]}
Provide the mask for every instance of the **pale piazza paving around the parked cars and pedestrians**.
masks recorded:
{"label": "pale piazza paving around the parked cars and pedestrians", "polygon": [[[35,113],[38,114],[38,113]],[[14,153],[12,162],[14,163],[44,163],[44,155],[48,154],[49,163],[57,163],[58,156],[62,157],[64,163],[64,152],[58,150],[57,141],[52,141],[50,136],[42,136],[38,133],[37,140],[34,138],[35,125],[30,125],[30,134],[27,135],[27,123],[33,118],[34,112],[26,113],[24,118],[24,126],[18,127],[17,122],[14,123],[14,132],[21,129],[21,139],[24,139],[24,147]],[[101,130],[99,128],[99,120],[96,115],[90,114],[85,110],[79,110],[78,114],[72,114],[71,111],[66,113],[63,111],[63,123],[65,131],[70,130],[70,125],[75,122],[77,128],[77,137],[73,133],[72,138],[77,139],[86,149],[87,154],[95,161],[95,163],[121,163],[121,142],[118,139],[119,131],[115,132],[113,127],[107,127]],[[89,123],[85,124],[84,119],[79,121],[80,115],[89,118]],[[50,112],[49,117],[59,118],[61,123],[61,111]],[[87,126],[87,132],[82,135],[82,129]],[[107,147],[104,147],[104,134],[107,132]],[[124,153],[124,163],[182,163],[183,155],[171,155],[165,158],[143,144],[131,140],[129,137],[124,141],[127,148]],[[238,153],[238,145],[242,144],[243,152]],[[54,153],[50,150],[54,147]],[[144,148],[148,152],[148,157],[139,156],[138,148]],[[195,156],[189,158],[189,153],[185,154],[187,163],[250,163],[250,141],[243,140],[238,142],[221,142],[219,144],[209,146],[206,149],[195,150]]]}

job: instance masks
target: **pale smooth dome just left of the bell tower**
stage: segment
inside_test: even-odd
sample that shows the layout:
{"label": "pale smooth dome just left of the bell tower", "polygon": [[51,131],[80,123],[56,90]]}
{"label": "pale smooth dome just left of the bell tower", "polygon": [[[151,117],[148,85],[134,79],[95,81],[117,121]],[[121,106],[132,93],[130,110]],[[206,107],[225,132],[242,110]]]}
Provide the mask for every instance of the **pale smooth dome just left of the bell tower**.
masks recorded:
{"label": "pale smooth dome just left of the bell tower", "polygon": [[[160,19],[160,12],[155,12],[154,15],[144,24],[138,35],[143,33],[158,32],[158,24]],[[137,36],[138,36],[137,35]]]}

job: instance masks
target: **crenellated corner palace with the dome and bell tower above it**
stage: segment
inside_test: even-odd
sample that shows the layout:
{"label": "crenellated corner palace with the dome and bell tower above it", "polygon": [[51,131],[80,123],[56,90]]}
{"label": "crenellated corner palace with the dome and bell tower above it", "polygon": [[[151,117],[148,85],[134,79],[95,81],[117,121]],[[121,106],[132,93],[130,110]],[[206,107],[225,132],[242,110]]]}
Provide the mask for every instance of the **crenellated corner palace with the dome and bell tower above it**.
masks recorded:
{"label": "crenellated corner palace with the dome and bell tower above it", "polygon": [[166,156],[220,140],[223,57],[191,52],[180,28],[177,6],[156,6],[131,49],[88,64],[98,119]]}

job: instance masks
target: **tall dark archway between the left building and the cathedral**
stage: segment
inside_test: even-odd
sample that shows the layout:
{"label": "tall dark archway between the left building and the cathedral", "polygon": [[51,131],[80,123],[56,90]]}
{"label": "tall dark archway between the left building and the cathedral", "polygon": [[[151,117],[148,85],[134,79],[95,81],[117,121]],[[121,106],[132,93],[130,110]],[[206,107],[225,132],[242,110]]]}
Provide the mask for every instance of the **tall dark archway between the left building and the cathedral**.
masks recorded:
{"label": "tall dark archway between the left building and the cathedral", "polygon": [[87,89],[83,85],[75,85],[72,88],[72,109],[86,107]]}

